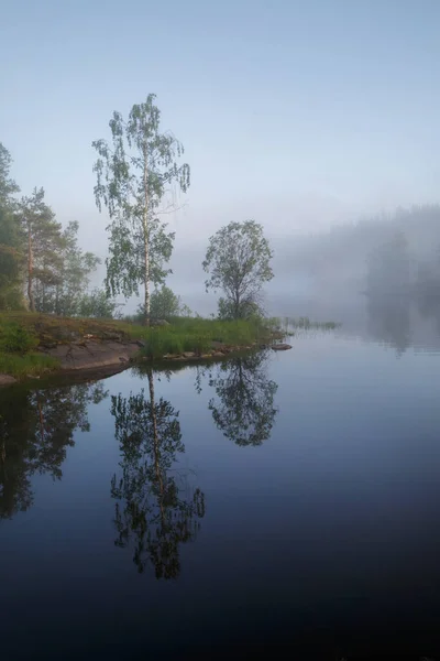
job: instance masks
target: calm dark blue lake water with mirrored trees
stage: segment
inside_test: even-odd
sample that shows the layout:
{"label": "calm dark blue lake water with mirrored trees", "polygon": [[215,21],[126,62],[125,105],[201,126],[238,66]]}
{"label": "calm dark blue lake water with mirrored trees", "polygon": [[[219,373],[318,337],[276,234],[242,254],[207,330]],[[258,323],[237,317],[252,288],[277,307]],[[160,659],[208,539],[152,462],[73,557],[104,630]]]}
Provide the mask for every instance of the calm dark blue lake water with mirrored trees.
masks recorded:
{"label": "calm dark blue lake water with mirrored trees", "polygon": [[293,345],[0,391],[2,659],[438,653],[440,354]]}

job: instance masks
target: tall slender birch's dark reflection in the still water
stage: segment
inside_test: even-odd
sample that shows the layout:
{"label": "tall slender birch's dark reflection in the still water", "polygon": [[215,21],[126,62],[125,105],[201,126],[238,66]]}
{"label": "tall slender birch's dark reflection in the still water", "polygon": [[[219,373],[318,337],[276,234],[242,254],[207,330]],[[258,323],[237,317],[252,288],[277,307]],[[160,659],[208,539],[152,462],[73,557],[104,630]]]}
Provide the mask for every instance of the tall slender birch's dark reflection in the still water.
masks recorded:
{"label": "tall slender birch's dark reflection in the still water", "polygon": [[148,561],[157,578],[175,578],[180,572],[179,544],[196,538],[205,514],[205,496],[193,497],[178,485],[173,464],[185,452],[178,412],[154,395],[150,371],[148,395],[112,398],[116,437],[122,451],[122,475],[114,475],[111,495],[117,499],[116,544],[134,546],[133,561],[142,573]]}

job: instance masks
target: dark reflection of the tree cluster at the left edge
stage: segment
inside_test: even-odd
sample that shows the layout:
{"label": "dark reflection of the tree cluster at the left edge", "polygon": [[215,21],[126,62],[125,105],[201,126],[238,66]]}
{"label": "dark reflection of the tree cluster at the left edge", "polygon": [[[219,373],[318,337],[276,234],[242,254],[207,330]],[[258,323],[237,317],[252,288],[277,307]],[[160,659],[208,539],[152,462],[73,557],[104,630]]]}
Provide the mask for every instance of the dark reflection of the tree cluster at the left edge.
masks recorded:
{"label": "dark reflection of the tree cluster at the left edge", "polygon": [[75,430],[90,430],[87,408],[107,394],[101,383],[0,393],[0,518],[32,506],[35,473],[62,478]]}

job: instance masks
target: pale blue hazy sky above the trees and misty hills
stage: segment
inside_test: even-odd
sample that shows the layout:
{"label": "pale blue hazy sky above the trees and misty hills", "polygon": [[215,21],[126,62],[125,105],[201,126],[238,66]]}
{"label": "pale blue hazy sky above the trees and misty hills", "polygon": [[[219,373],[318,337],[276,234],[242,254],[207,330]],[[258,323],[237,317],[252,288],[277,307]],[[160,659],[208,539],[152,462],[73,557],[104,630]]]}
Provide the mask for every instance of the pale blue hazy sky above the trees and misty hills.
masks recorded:
{"label": "pale blue hazy sky above the trees and misty hills", "polygon": [[196,264],[231,220],[283,247],[438,202],[439,33],[439,0],[6,0],[0,141],[23,194],[44,186],[105,257],[91,142],[155,93],[191,167],[172,284],[202,293]]}

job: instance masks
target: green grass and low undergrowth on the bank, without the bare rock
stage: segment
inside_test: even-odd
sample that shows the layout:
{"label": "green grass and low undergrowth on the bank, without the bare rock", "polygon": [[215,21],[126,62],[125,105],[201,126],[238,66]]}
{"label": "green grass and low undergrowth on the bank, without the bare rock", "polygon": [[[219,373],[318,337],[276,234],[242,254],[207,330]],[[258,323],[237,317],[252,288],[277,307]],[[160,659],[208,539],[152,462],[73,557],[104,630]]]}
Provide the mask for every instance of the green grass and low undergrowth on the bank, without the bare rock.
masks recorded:
{"label": "green grass and low undergrowth on the bank, without the bare rock", "polygon": [[32,313],[0,314],[0,373],[22,379],[56,371],[58,362],[43,351],[59,344],[98,340],[142,340],[140,353],[151,359],[166,355],[216,350],[219,345],[242,348],[267,342],[262,322],[220,322],[178,317],[169,325],[146,328],[139,324],[90,318],[67,318]]}

